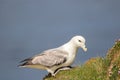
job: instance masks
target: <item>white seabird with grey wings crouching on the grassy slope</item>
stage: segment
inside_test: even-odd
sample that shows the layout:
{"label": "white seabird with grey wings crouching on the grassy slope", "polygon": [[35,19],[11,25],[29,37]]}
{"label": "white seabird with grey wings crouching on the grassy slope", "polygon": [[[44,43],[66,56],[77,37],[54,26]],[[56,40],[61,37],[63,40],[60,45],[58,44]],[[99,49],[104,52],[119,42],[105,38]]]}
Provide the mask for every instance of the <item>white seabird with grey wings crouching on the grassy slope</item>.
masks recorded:
{"label": "white seabird with grey wings crouching on the grassy slope", "polygon": [[80,35],[74,36],[58,48],[45,50],[38,55],[21,61],[19,66],[47,70],[52,76],[55,76],[60,70],[71,68],[78,48],[87,51],[85,38]]}

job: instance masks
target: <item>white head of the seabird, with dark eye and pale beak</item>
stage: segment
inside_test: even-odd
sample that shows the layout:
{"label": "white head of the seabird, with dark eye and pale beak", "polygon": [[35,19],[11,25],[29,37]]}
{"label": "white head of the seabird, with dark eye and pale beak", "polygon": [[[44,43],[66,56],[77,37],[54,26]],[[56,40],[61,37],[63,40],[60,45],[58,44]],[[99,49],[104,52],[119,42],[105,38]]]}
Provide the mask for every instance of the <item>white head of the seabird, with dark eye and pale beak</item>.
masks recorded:
{"label": "white head of the seabird, with dark eye and pale beak", "polygon": [[82,48],[84,51],[87,51],[85,38],[83,36],[74,36],[70,42],[72,42],[77,48]]}

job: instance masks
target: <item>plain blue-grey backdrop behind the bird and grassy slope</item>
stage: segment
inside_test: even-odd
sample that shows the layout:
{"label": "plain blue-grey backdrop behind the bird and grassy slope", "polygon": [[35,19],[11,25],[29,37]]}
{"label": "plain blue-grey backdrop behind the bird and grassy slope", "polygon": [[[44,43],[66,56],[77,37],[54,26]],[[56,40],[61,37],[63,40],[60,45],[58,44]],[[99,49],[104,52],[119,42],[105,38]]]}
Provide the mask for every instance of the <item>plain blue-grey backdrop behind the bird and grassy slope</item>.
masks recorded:
{"label": "plain blue-grey backdrop behind the bird and grassy slope", "polygon": [[74,65],[104,57],[120,38],[120,0],[0,0],[0,79],[42,80],[46,71],[18,68],[19,62],[86,38]]}

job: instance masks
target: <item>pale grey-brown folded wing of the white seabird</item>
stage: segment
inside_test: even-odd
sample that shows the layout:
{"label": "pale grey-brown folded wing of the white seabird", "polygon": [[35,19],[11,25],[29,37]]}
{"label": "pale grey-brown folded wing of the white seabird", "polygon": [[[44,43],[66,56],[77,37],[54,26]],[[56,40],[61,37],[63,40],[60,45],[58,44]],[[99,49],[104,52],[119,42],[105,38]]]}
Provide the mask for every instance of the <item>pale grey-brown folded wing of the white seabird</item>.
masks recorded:
{"label": "pale grey-brown folded wing of the white seabird", "polygon": [[48,50],[42,54],[35,56],[32,60],[33,64],[40,64],[46,67],[52,67],[65,63],[67,60],[67,52],[61,50]]}

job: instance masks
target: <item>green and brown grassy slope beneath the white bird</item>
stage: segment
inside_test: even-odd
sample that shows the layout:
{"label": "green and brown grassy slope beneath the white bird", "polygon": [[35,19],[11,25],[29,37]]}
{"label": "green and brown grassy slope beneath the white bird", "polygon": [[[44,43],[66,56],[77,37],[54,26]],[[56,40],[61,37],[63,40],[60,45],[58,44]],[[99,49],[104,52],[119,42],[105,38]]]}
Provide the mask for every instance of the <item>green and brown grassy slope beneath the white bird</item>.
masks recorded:
{"label": "green and brown grassy slope beneath the white bird", "polygon": [[45,80],[120,80],[120,40],[108,50],[106,57],[91,58],[85,64],[68,71],[60,71],[56,77]]}

